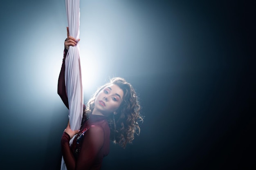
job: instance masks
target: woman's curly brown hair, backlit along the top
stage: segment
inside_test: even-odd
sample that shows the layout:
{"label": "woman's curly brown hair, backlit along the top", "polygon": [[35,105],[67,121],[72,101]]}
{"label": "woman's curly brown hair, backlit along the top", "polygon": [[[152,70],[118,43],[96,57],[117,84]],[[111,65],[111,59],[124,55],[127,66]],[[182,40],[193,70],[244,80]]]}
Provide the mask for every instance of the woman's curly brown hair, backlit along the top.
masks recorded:
{"label": "woman's curly brown hair, backlit along the top", "polygon": [[86,114],[92,113],[94,109],[94,101],[99,92],[110,84],[116,84],[124,91],[124,99],[117,109],[117,114],[113,117],[108,117],[110,126],[110,139],[121,147],[125,148],[127,143],[132,143],[134,133],[139,135],[139,122],[143,122],[143,117],[140,115],[141,106],[138,101],[137,93],[132,85],[124,78],[114,77],[108,83],[99,87],[92,95],[86,105]]}

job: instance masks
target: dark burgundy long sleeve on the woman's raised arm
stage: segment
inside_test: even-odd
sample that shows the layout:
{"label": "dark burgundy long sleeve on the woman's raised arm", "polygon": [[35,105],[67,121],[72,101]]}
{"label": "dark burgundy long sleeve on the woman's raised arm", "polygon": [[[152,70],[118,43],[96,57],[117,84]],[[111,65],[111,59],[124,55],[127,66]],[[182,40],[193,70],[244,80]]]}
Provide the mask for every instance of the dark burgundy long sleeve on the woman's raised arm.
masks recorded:
{"label": "dark burgundy long sleeve on the woman's raised arm", "polygon": [[61,72],[58,77],[58,95],[61,97],[63,103],[67,108],[68,106],[68,99],[67,99],[67,91],[66,91],[66,86],[65,86],[65,59],[67,56],[67,50],[64,49],[64,54],[63,54],[63,60],[62,60],[62,65],[61,65]]}

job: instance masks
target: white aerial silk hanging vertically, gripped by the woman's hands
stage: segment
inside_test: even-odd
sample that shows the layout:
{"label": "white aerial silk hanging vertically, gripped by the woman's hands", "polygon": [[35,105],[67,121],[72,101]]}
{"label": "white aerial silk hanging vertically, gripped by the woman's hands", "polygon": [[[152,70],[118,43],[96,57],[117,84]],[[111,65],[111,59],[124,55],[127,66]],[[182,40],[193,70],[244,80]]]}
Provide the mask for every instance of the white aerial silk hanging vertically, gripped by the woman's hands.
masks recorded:
{"label": "white aerial silk hanging vertically, gripped by the woman's hands", "polygon": [[[78,40],[80,34],[80,0],[65,0],[65,3],[70,36]],[[68,116],[70,119],[70,128],[72,130],[79,130],[83,117],[83,86],[79,43],[76,46],[70,46],[67,52],[65,60],[65,86],[69,104]],[[70,145],[72,144],[74,137],[70,140]],[[61,161],[61,170],[67,170],[63,157]]]}

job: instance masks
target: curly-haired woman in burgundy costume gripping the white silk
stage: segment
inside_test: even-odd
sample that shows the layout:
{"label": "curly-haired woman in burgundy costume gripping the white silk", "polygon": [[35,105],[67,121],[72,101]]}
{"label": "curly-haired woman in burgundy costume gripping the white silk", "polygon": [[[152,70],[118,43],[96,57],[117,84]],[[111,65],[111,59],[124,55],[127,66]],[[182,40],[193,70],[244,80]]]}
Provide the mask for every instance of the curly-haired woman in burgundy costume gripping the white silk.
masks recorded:
{"label": "curly-haired woman in burgundy costume gripping the white silk", "polygon": [[[68,108],[65,57],[69,46],[76,45],[76,40],[69,36],[68,29],[67,35],[58,95]],[[115,77],[98,88],[87,106],[84,105],[80,130],[71,130],[68,123],[63,132],[61,148],[67,170],[101,169],[102,159],[109,153],[110,140],[125,148],[134,139],[134,133],[139,135],[138,121],[142,121],[139,110],[137,94],[125,79]],[[74,135],[76,137],[70,146],[69,141]]]}

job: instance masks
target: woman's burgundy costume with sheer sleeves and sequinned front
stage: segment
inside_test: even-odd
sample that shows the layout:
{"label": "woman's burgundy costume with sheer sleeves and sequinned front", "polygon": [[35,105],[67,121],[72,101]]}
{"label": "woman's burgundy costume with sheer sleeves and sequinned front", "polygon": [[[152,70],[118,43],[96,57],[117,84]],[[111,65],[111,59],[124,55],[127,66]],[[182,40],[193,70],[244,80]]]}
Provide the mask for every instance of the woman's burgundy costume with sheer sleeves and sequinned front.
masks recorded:
{"label": "woman's burgundy costume with sheer sleeves and sequinned front", "polygon": [[[68,99],[65,88],[65,58],[58,78],[58,95],[67,108]],[[85,109],[85,105],[84,105]],[[100,170],[103,157],[107,156],[110,147],[110,128],[107,117],[101,115],[83,114],[81,128],[70,146],[70,136],[63,132],[61,150],[67,170]]]}

